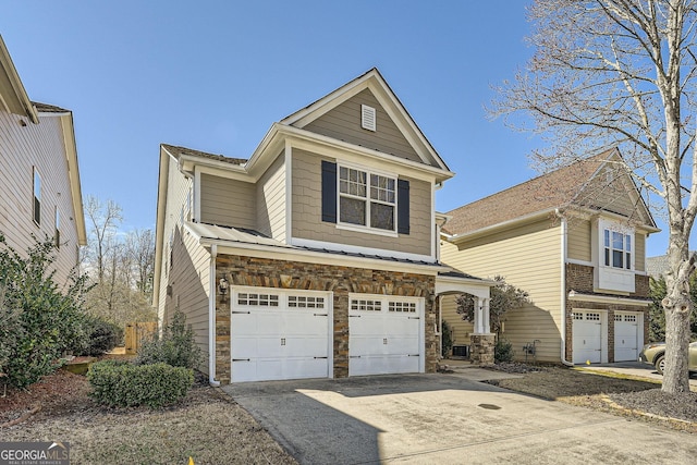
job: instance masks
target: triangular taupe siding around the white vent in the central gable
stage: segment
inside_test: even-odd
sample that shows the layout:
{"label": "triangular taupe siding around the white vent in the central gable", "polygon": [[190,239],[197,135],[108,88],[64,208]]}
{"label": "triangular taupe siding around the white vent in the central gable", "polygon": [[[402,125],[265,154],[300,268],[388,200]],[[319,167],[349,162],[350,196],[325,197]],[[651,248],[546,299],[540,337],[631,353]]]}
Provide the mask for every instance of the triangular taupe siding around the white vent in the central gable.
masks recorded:
{"label": "triangular taupe siding around the white vent in the central gable", "polygon": [[[376,109],[376,131],[360,127],[362,105]],[[304,129],[384,154],[392,154],[413,161],[421,161],[369,89],[360,91],[307,124]]]}

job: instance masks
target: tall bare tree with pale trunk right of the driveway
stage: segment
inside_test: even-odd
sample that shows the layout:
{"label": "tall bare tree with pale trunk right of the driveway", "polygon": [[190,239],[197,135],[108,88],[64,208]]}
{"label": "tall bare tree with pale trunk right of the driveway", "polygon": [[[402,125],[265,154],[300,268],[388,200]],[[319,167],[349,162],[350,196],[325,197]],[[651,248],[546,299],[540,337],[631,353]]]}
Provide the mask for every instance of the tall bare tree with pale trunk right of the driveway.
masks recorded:
{"label": "tall bare tree with pale trunk right of the driveway", "polygon": [[549,151],[533,154],[547,169],[584,158],[599,143],[617,145],[627,172],[658,199],[669,229],[662,389],[671,393],[689,389],[696,1],[535,0],[534,57],[491,108],[547,136]]}

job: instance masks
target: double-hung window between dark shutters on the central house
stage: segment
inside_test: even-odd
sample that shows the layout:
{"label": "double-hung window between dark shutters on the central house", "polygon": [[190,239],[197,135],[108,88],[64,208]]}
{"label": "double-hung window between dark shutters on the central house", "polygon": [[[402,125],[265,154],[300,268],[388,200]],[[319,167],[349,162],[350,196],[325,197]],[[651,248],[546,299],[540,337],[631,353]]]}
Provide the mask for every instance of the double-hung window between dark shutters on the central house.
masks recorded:
{"label": "double-hung window between dark shutters on the central house", "polygon": [[395,208],[395,178],[347,167],[339,168],[340,222],[394,231]]}

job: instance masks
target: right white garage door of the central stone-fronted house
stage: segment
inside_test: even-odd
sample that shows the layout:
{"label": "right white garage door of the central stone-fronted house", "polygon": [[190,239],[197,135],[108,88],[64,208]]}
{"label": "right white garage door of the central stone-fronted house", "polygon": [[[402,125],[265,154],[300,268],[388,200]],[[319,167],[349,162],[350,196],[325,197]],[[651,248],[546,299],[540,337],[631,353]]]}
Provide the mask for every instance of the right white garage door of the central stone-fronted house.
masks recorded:
{"label": "right white garage door of the central stone-fronted house", "polygon": [[420,298],[352,294],[348,376],[424,371]]}

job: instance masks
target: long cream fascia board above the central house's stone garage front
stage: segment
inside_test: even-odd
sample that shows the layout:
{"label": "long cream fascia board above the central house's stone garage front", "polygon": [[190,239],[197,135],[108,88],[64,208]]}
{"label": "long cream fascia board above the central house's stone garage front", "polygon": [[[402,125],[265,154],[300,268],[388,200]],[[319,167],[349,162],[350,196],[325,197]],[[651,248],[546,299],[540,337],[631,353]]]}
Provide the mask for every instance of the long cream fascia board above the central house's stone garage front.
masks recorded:
{"label": "long cream fascia board above the central house's stone garage front", "polygon": [[442,265],[416,265],[395,261],[384,261],[374,258],[346,257],[321,252],[303,250],[284,246],[267,246],[248,243],[231,243],[230,241],[200,237],[200,245],[211,247],[216,245],[218,254],[269,258],[284,261],[301,261],[328,266],[344,266],[384,271],[403,271],[418,274],[437,276],[445,268]]}

